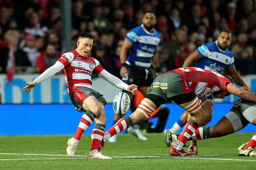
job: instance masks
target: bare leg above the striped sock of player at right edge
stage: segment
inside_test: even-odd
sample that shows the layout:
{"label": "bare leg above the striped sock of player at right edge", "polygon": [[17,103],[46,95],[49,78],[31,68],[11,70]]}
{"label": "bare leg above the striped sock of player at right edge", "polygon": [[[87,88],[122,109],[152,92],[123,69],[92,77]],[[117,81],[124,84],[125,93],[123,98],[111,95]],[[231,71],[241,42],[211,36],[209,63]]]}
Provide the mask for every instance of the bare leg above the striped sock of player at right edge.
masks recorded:
{"label": "bare leg above the striped sock of player at right edge", "polygon": [[[230,115],[228,115],[228,117],[231,118]],[[236,129],[236,131],[237,129],[242,129],[242,124],[239,125],[237,124],[237,122],[232,124],[228,117],[222,117],[222,119],[220,119],[220,121],[218,121],[216,125],[210,127],[211,137],[222,137],[225,135],[229,135],[235,132],[234,128]]]}

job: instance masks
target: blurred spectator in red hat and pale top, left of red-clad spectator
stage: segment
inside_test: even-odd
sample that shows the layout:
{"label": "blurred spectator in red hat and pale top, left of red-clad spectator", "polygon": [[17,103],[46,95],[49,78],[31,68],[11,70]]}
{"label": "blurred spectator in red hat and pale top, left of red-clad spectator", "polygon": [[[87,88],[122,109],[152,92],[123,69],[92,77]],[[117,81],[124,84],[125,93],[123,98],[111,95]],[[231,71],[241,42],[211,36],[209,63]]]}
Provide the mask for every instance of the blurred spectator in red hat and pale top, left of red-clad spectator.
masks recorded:
{"label": "blurred spectator in red hat and pale top, left of red-clad spectator", "polygon": [[36,49],[36,37],[34,35],[27,34],[25,36],[25,47],[23,47],[23,51],[27,54],[31,65],[35,67],[39,53]]}

